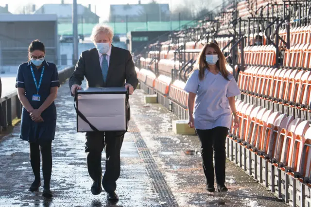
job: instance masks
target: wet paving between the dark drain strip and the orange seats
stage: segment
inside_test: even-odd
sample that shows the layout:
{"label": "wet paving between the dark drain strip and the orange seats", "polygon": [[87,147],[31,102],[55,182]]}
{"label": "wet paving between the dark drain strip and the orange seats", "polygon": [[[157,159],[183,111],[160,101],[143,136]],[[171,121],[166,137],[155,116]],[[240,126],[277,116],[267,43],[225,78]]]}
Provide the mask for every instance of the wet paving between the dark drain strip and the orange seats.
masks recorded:
{"label": "wet paving between the dark drain strip and the orange seats", "polygon": [[160,104],[144,104],[143,96],[141,91],[136,91],[131,99],[131,113],[180,207],[287,207],[228,160],[229,191],[207,192],[199,139],[175,135],[172,120],[177,118]]}

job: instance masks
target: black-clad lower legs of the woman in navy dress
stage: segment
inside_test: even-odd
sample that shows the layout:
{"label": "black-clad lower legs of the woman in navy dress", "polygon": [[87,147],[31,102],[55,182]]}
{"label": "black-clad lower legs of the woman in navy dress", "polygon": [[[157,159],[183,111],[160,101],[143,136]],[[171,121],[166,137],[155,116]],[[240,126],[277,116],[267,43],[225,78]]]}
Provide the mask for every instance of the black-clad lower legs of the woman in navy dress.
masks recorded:
{"label": "black-clad lower legs of the woman in navy dress", "polygon": [[42,155],[42,173],[44,179],[44,187],[50,188],[50,180],[52,174],[52,141],[40,143],[32,142],[30,146],[30,163],[33,168],[36,181],[40,178],[40,151]]}

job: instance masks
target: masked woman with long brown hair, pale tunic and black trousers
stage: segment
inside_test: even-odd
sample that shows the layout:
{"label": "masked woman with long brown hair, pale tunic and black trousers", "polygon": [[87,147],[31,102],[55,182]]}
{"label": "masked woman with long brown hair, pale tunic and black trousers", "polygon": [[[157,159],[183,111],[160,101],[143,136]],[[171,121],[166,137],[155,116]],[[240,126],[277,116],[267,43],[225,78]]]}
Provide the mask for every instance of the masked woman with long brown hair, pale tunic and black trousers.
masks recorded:
{"label": "masked woman with long brown hair, pale tunic and black trousers", "polygon": [[228,190],[225,187],[225,139],[232,115],[234,127],[239,127],[235,96],[240,95],[240,89],[226,65],[225,55],[218,45],[207,43],[184,88],[189,92],[188,124],[195,128],[201,141],[203,170],[209,192],[215,191],[213,153],[217,189],[219,192]]}

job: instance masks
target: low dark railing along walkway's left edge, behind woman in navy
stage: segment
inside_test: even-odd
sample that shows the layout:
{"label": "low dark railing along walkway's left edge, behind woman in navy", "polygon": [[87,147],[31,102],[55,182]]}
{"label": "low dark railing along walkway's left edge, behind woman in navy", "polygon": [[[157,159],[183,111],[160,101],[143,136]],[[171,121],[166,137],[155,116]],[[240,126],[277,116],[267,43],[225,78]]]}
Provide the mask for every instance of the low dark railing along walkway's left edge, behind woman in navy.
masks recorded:
{"label": "low dark railing along walkway's left edge, behind woman in navy", "polygon": [[[75,68],[74,66],[70,66],[58,71],[58,77],[61,84],[66,82],[66,80],[72,74],[74,68]],[[2,105],[2,118],[4,120],[3,126],[0,126],[0,134],[1,134],[2,131],[1,127],[3,128],[3,130],[6,130],[8,126],[12,126],[12,121],[14,119],[16,118],[20,119],[22,105],[17,97],[17,91],[14,91],[0,98],[0,103]]]}

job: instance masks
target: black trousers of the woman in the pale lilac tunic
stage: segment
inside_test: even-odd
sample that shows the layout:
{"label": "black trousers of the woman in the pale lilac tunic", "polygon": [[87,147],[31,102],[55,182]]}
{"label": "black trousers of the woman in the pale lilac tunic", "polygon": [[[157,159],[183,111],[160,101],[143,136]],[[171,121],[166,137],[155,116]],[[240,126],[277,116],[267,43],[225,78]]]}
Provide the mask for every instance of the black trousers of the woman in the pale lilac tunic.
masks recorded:
{"label": "black trousers of the woman in the pale lilac tunic", "polygon": [[208,130],[196,129],[201,141],[201,156],[207,185],[214,184],[213,154],[215,156],[215,173],[217,184],[225,184],[225,139],[228,128],[215,127]]}

